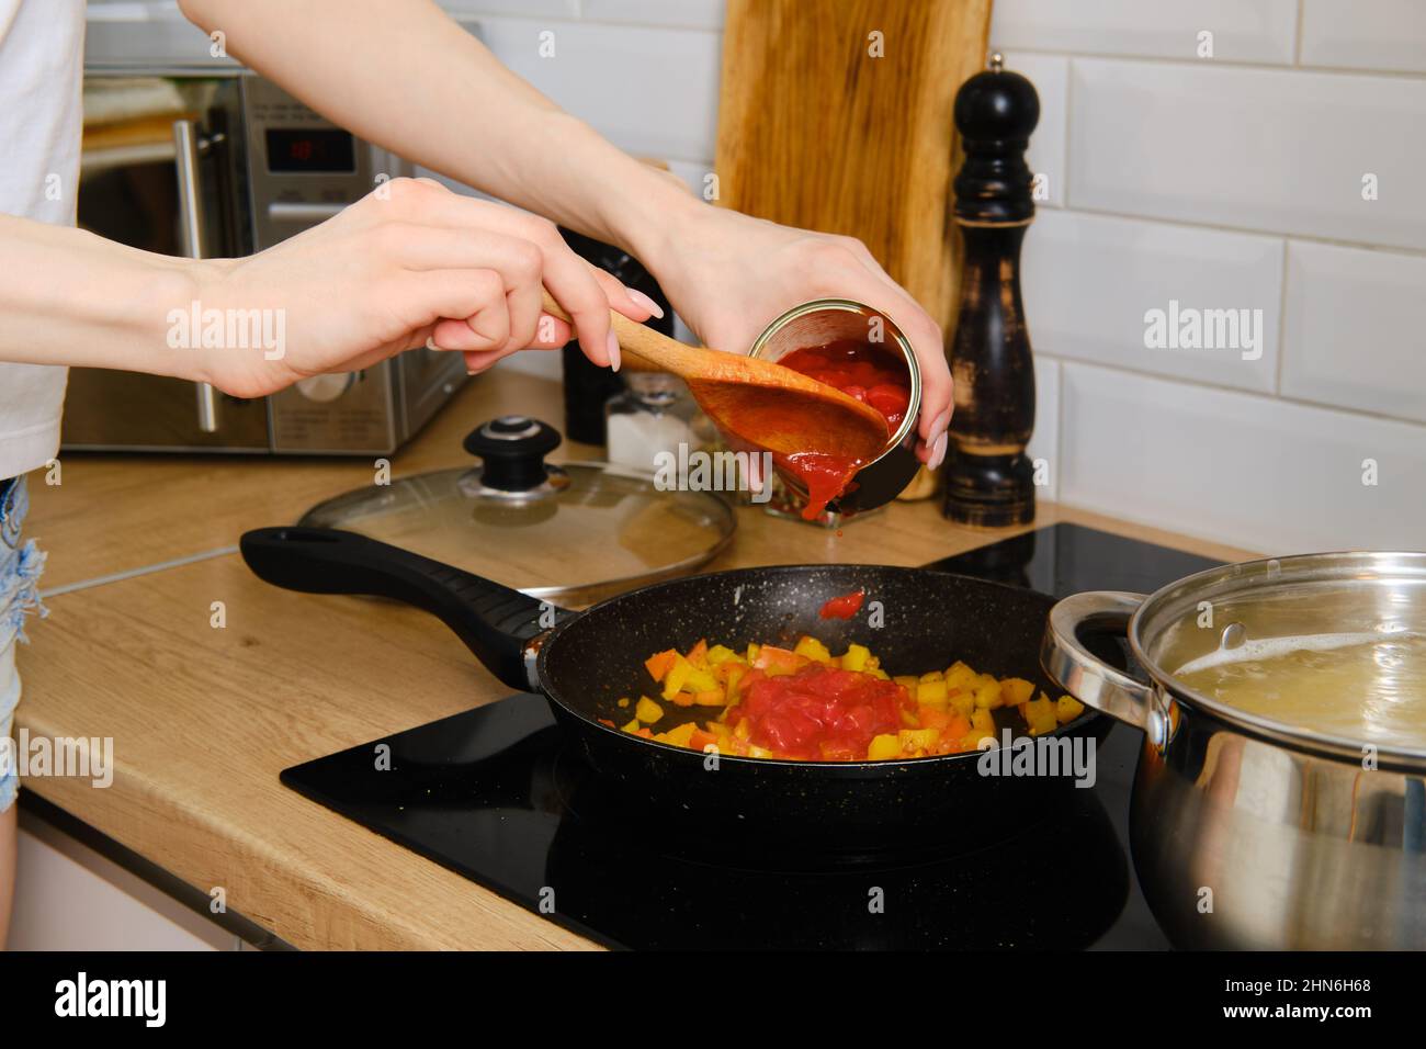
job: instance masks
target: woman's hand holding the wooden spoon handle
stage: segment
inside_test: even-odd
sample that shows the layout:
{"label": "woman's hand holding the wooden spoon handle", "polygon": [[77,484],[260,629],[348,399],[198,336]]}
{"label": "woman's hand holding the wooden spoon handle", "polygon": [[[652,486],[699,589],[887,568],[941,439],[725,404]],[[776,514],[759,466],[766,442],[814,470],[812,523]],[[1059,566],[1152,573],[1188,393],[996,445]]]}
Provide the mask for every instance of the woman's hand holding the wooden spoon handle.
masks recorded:
{"label": "woman's hand holding the wooden spoon handle", "polygon": [[[463,353],[468,370],[482,371],[572,334],[589,360],[617,368],[609,308],[636,321],[653,313],[647,297],[570,251],[552,223],[426,178],[395,178],[321,225],[250,258],[197,263],[194,274],[204,313],[281,317],[279,328],[267,321],[267,331],[282,333],[281,347],[201,351],[202,378],[235,397],[419,345]],[[569,311],[573,333],[542,311],[542,285]]]}

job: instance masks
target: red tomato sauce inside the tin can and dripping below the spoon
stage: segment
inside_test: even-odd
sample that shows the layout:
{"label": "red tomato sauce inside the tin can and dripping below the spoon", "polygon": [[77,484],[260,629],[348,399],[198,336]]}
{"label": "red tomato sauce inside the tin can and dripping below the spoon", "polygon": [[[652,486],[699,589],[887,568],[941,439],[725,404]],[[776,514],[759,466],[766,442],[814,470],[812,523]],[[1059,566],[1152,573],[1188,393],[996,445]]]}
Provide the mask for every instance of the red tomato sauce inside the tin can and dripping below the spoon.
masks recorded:
{"label": "red tomato sauce inside the tin can and dripping below the spoon", "polygon": [[[777,363],[870,404],[887,421],[887,434],[894,434],[906,420],[911,404],[911,381],[906,364],[870,343],[841,338],[826,345],[793,350]],[[851,478],[866,465],[861,460],[821,452],[779,455],[776,461],[807,488],[807,505],[801,512],[807,521],[817,520],[829,502],[851,491]]]}

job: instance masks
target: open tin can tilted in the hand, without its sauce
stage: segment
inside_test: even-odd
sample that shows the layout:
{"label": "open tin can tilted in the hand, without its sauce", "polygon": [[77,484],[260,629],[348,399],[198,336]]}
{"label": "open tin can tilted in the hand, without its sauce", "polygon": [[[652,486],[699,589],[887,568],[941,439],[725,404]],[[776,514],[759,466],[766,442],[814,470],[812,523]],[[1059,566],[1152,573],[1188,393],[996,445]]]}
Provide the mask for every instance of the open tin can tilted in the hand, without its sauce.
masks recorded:
{"label": "open tin can tilted in the hand, without its sauce", "polygon": [[[896,321],[876,307],[856,303],[850,298],[816,298],[796,305],[763,328],[749,357],[764,361],[779,361],[794,350],[826,345],[837,340],[851,340],[868,345],[881,345],[898,357],[907,370],[911,398],[906,418],[897,431],[887,438],[881,454],[857,471],[856,487],[829,505],[836,514],[864,512],[883,507],[906,488],[920,461],[915,458],[915,425],[921,414],[921,368],[915,363],[915,351]],[[807,498],[807,488],[786,471],[779,471],[783,484],[800,500]]]}

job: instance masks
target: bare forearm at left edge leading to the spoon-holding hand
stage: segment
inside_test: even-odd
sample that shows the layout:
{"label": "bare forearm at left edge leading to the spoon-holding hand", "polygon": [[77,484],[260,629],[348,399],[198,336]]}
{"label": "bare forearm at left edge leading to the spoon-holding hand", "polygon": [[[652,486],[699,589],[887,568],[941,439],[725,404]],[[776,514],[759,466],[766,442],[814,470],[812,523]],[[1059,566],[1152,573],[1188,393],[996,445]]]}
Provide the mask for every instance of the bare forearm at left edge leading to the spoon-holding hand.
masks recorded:
{"label": "bare forearm at left edge leading to the spoon-holding hand", "polygon": [[165,338],[168,313],[197,295],[194,265],[0,216],[0,360],[201,378],[202,351]]}

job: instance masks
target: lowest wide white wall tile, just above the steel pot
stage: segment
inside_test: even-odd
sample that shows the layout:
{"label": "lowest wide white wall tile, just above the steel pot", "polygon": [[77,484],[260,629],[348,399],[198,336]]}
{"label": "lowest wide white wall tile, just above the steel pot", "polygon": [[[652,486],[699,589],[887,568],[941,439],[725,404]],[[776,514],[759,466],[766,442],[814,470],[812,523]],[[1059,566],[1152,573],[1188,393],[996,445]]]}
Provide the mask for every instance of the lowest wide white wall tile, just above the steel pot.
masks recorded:
{"label": "lowest wide white wall tile, just above the steel pot", "polygon": [[1061,382],[1067,502],[1268,554],[1426,548],[1420,427],[1088,364]]}

